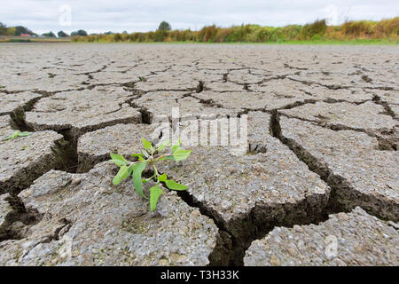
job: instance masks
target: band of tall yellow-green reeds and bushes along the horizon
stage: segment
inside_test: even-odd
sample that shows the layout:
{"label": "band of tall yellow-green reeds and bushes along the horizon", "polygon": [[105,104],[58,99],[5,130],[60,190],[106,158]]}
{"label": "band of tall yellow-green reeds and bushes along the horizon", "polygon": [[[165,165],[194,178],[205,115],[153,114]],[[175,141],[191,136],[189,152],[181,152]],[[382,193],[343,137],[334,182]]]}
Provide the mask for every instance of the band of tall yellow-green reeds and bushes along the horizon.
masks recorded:
{"label": "band of tall yellow-green reeds and bushes along the horizon", "polygon": [[356,40],[399,39],[399,17],[388,20],[347,21],[340,26],[327,26],[325,20],[317,20],[304,26],[290,25],[281,28],[261,27],[259,25],[241,25],[231,28],[207,26],[200,31],[158,29],[146,33],[126,32],[119,34],[73,36],[73,42],[192,42],[192,43],[268,43],[306,40]]}

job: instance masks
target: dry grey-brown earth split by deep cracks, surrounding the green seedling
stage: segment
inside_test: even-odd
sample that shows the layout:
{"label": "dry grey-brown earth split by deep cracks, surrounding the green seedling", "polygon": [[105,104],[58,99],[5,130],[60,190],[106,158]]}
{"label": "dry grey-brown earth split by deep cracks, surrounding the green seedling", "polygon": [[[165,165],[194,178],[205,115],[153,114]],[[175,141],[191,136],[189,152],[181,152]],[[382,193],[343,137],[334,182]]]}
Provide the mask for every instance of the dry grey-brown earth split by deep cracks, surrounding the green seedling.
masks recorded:
{"label": "dry grey-brown earth split by deep cracks, surrounding the green seedling", "polygon": [[[398,265],[398,59],[395,46],[0,45],[0,137],[33,132],[0,142],[0,264]],[[149,213],[106,160],[156,143],[173,107],[199,123],[246,114],[247,151],[201,144],[161,166],[189,188]]]}

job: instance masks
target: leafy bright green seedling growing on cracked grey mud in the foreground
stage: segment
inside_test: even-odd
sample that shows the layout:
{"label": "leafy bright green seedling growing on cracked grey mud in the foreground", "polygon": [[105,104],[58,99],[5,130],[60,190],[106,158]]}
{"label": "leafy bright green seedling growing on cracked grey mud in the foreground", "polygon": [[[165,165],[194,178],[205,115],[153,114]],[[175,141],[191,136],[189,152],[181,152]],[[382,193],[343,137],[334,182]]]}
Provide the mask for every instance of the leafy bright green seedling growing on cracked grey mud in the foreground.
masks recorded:
{"label": "leafy bright green seedling growing on cracked grey mud in the foreground", "polygon": [[[181,142],[179,140],[179,142],[170,147],[169,154],[161,154],[168,146],[170,146],[169,140],[160,143],[158,147],[154,147],[152,143],[145,140],[145,138],[141,139],[143,141],[143,146],[145,147],[143,153],[130,155],[132,157],[137,157],[137,162],[129,162],[122,155],[111,153],[111,161],[120,167],[120,170],[116,176],[113,177],[113,185],[119,185],[123,179],[131,176],[133,178],[133,185],[136,189],[136,192],[141,197],[150,200],[150,208],[151,211],[153,211],[157,206],[160,195],[163,193],[159,186],[160,183],[164,183],[171,190],[187,189],[187,186],[180,185],[173,179],[168,179],[165,173],[160,174],[155,166],[155,163],[166,160],[183,161],[192,153],[192,151],[183,150],[180,147]],[[141,175],[147,166],[153,168],[153,176],[142,178]],[[143,183],[147,183],[150,180],[154,180],[156,185],[150,188],[150,198],[148,198],[145,193],[143,193]]]}

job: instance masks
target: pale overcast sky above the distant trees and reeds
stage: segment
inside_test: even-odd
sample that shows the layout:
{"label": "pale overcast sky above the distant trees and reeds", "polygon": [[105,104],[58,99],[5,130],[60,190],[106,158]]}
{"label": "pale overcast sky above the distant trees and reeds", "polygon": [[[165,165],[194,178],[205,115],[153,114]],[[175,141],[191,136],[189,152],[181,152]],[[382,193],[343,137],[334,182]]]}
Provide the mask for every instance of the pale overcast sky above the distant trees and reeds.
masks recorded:
{"label": "pale overcast sky above the distant trees and reeds", "polygon": [[172,28],[305,24],[327,19],[381,20],[399,15],[398,0],[0,0],[0,21],[35,33],[85,29],[89,33],[149,31],[166,20]]}

